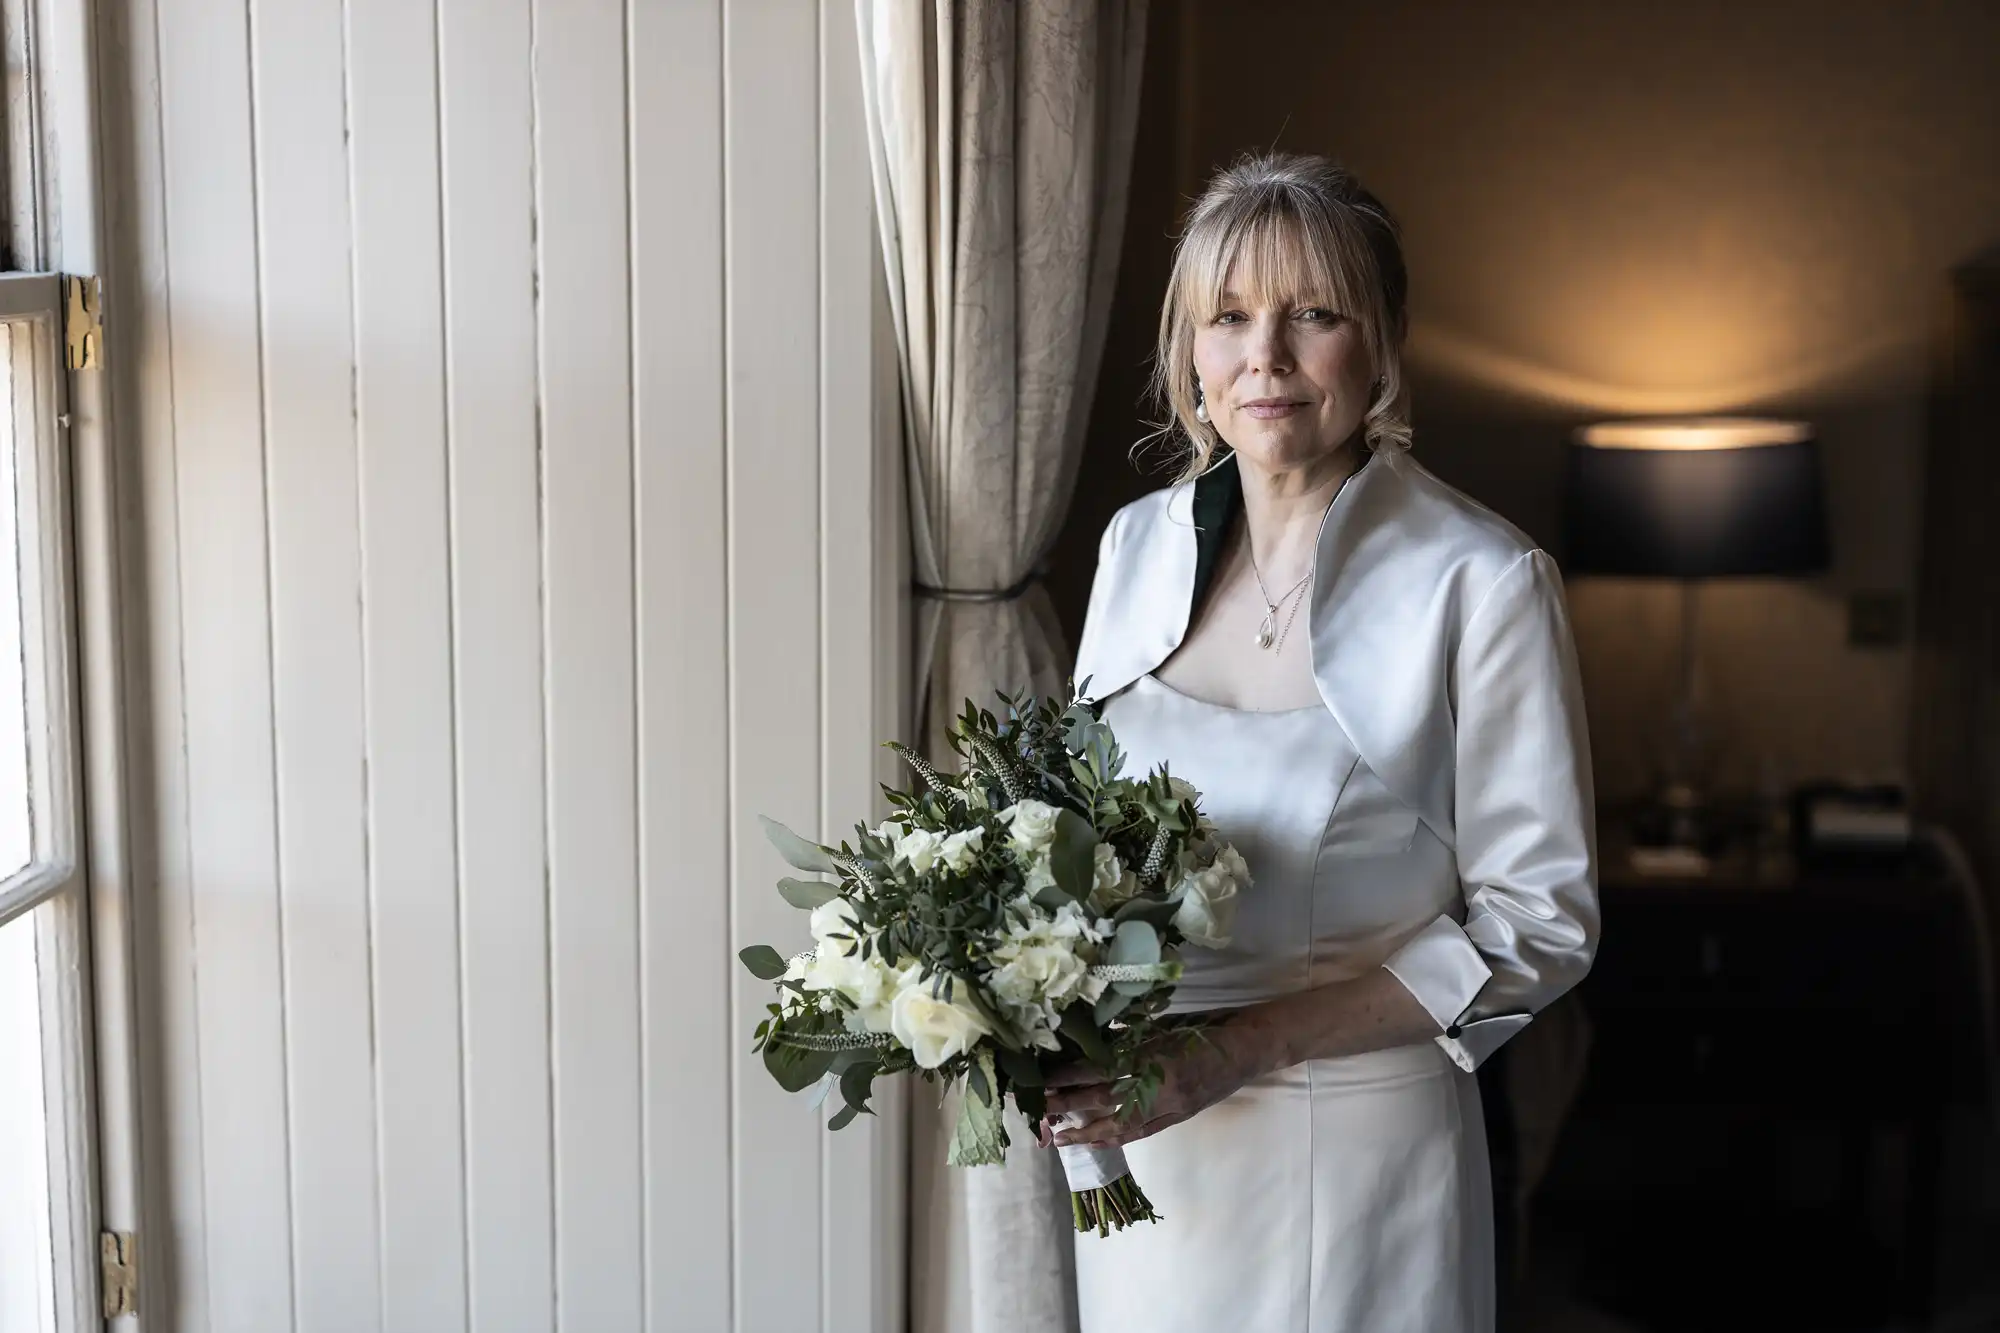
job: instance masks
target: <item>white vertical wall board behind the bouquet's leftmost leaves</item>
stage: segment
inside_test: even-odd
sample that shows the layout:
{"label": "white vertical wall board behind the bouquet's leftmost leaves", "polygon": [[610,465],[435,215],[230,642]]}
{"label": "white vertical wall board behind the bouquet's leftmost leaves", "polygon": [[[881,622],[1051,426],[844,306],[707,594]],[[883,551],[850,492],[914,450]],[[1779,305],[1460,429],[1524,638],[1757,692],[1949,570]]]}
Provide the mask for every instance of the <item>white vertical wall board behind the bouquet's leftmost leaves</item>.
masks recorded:
{"label": "white vertical wall board behind the bouquet's leftmost leaves", "polygon": [[[818,14],[724,10],[728,218],[728,556],[732,919],[740,949],[802,945],[758,829],[820,823]],[[772,1263],[768,1237],[818,1253],[826,1133],[748,1057],[770,987],[734,971],[736,1327],[820,1325],[818,1265]]]}

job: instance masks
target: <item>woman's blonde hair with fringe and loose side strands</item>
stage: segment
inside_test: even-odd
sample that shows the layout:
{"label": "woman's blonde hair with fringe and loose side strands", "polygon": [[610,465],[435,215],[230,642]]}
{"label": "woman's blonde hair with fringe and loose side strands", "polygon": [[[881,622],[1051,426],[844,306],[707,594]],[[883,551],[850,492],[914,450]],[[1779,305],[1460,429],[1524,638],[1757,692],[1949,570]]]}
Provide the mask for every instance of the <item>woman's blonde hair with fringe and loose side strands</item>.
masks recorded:
{"label": "woman's blonde hair with fringe and loose side strands", "polygon": [[1214,316],[1238,258],[1248,298],[1326,302],[1356,322],[1378,376],[1362,418],[1368,448],[1410,448],[1402,378],[1410,278],[1396,218],[1330,158],[1252,152],[1216,172],[1188,212],[1160,306],[1152,396],[1166,412],[1160,436],[1186,440],[1176,482],[1206,472],[1222,442],[1194,416],[1194,328]]}

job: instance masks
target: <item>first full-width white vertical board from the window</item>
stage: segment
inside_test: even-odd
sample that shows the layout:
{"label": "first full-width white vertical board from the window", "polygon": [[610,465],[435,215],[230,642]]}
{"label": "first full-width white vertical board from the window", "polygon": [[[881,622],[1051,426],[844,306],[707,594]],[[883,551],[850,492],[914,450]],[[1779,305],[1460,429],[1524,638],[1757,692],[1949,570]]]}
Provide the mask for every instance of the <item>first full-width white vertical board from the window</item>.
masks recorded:
{"label": "first full-width white vertical board from the window", "polygon": [[270,580],[242,0],[160,4],[210,1329],[292,1325]]}

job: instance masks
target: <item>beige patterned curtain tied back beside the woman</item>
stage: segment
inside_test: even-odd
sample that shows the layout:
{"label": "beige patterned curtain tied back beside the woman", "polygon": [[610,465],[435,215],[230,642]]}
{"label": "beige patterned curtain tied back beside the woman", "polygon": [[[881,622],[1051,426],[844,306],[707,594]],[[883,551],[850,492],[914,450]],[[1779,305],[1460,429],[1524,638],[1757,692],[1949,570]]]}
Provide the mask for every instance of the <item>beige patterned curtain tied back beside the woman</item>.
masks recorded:
{"label": "beige patterned curtain tied back beside the woman", "polygon": [[[1124,230],[1146,0],[856,0],[876,216],[902,358],[914,731],[1054,695],[1070,652],[1038,562],[1076,484]],[[948,1171],[912,1117],[912,1329],[1074,1327],[1054,1155]]]}

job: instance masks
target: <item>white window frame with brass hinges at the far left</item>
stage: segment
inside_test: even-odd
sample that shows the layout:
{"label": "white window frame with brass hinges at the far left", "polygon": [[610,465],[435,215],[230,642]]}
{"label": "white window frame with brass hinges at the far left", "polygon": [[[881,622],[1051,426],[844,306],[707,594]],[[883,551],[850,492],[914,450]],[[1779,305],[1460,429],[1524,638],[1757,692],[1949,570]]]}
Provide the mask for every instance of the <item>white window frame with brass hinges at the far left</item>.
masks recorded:
{"label": "white window frame with brass hinges at the far left", "polygon": [[[34,634],[52,713],[40,763],[64,793],[36,813],[32,873],[0,885],[0,915],[34,913],[54,1329],[142,1333],[150,1313],[140,1311],[162,1291],[140,1247],[160,1219],[148,1213],[138,1133],[142,905],[126,799],[120,468],[102,330],[98,360],[76,368],[66,326],[70,276],[96,282],[106,264],[98,20],[94,0],[0,0],[0,268],[10,270],[0,316],[32,322],[34,392],[48,408],[32,434],[40,550],[30,596],[48,608]],[[28,642],[24,632],[24,656]],[[118,1315],[108,1313],[102,1245],[114,1235],[128,1263]]]}

